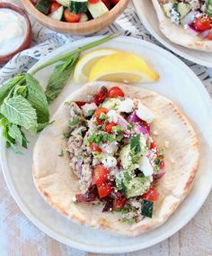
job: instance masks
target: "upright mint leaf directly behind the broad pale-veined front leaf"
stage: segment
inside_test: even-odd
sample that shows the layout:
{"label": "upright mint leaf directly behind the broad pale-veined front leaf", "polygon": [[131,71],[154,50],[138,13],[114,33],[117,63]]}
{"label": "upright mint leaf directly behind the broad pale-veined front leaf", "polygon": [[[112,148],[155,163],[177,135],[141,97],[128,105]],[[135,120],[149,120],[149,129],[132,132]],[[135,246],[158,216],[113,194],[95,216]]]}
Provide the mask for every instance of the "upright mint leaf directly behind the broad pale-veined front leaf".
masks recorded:
{"label": "upright mint leaf directly behind the broad pale-veined front leaf", "polygon": [[49,122],[49,105],[47,97],[39,82],[31,76],[26,74],[26,87],[28,88],[27,100],[35,108],[38,118],[38,123]]}

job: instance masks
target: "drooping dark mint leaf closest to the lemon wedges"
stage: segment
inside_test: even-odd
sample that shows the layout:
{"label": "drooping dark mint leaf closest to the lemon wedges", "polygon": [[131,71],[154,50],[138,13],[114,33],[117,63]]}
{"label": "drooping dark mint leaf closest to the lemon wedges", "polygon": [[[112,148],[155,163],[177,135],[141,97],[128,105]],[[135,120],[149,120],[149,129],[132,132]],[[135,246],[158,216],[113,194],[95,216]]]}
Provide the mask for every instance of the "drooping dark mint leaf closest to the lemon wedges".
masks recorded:
{"label": "drooping dark mint leaf closest to the lemon wedges", "polygon": [[79,55],[76,55],[75,57],[66,59],[63,64],[57,65],[50,75],[46,88],[46,96],[49,103],[56,99],[63,87],[65,87],[68,78],[70,78],[75,68],[78,57]]}

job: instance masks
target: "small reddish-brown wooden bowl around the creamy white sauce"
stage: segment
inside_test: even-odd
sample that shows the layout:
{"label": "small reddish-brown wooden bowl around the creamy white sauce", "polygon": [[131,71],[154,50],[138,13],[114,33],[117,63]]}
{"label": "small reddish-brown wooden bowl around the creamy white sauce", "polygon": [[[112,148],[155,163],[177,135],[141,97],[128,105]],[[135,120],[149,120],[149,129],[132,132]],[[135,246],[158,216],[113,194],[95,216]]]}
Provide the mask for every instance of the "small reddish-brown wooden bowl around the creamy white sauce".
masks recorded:
{"label": "small reddish-brown wooden bowl around the creamy white sauce", "polygon": [[26,49],[30,46],[31,38],[32,38],[32,32],[31,32],[30,20],[29,20],[27,14],[25,14],[24,11],[19,6],[13,5],[13,4],[10,4],[10,3],[1,2],[0,3],[0,8],[11,9],[16,13],[21,14],[23,16],[23,18],[25,19],[26,26],[27,26],[27,32],[26,32],[25,38],[22,41],[22,44],[19,46],[19,48],[17,48],[16,50],[13,50],[10,53],[5,54],[5,55],[0,55],[0,63],[2,64],[4,62],[8,61],[9,59],[12,59],[13,56],[15,54],[17,54],[18,52],[20,52],[20,51],[22,51],[22,50],[24,50],[24,49]]}

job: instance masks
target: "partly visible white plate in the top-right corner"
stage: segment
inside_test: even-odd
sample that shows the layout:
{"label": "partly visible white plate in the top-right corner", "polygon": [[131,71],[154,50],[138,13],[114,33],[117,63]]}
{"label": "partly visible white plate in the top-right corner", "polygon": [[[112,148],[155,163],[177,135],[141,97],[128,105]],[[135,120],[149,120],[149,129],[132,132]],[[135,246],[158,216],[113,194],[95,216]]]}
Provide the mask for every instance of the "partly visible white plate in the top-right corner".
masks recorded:
{"label": "partly visible white plate in the top-right corner", "polygon": [[192,50],[168,40],[159,29],[159,23],[152,0],[132,0],[137,14],[146,29],[165,47],[185,59],[212,68],[212,52]]}

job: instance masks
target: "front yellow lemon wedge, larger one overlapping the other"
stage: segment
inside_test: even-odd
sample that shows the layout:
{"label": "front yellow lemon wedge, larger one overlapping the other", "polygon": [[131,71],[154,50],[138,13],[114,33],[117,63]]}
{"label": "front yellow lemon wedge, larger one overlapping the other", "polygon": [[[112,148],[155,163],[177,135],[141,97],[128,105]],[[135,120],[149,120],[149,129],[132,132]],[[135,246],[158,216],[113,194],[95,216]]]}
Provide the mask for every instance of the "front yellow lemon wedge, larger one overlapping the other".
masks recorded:
{"label": "front yellow lemon wedge, larger one overlapping the other", "polygon": [[135,54],[118,52],[99,59],[90,71],[89,81],[112,81],[128,84],[155,82],[158,74]]}

